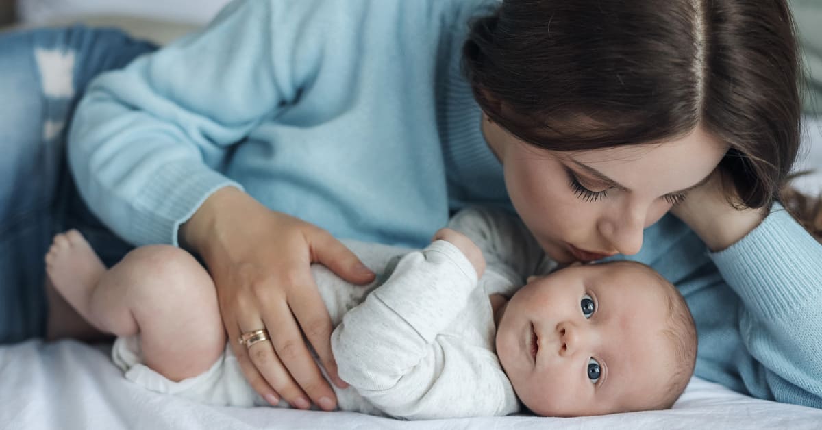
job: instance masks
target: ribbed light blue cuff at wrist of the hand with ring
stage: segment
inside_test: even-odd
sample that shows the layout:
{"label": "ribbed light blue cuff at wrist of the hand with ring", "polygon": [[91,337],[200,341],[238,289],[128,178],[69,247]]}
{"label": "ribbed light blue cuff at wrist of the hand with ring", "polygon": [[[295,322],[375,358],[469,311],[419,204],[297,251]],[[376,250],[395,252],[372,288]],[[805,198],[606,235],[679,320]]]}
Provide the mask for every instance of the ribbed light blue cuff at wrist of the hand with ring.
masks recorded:
{"label": "ribbed light blue cuff at wrist of the hand with ring", "polygon": [[178,246],[178,229],[194,215],[205,199],[222,187],[242,186],[202,164],[180,161],[166,164],[136,201],[132,237],[141,244]]}

